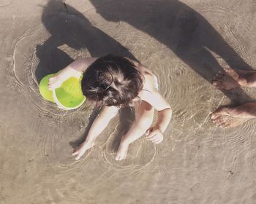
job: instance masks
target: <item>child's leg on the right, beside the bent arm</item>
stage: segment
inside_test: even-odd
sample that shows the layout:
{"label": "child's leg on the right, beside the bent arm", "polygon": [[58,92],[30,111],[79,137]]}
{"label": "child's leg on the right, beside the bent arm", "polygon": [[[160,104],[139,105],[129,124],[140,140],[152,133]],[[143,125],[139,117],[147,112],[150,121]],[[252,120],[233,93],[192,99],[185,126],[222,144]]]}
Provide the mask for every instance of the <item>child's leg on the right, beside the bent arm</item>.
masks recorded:
{"label": "child's leg on the right, beside the bent arm", "polygon": [[149,103],[142,101],[135,105],[135,122],[128,133],[121,138],[116,160],[124,160],[127,157],[129,144],[146,133],[153,122],[153,116],[154,108]]}

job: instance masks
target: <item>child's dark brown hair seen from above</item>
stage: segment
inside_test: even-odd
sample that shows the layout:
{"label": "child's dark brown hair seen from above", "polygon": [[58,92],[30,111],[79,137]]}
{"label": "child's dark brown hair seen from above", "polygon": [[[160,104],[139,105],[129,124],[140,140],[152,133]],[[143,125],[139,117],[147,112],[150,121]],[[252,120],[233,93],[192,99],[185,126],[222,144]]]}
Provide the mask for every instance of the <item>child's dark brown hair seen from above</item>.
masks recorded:
{"label": "child's dark brown hair seen from above", "polygon": [[143,76],[132,61],[115,55],[99,58],[86,69],[83,95],[104,106],[127,105],[143,88]]}

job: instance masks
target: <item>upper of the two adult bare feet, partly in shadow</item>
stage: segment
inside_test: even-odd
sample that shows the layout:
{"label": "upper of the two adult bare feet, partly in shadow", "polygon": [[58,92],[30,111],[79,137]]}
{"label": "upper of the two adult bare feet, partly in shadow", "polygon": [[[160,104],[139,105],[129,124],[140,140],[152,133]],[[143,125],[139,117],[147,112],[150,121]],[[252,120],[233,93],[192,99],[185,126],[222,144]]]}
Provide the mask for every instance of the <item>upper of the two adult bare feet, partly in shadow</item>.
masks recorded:
{"label": "upper of the two adult bare feet, partly in shadow", "polygon": [[232,90],[236,87],[253,87],[256,85],[256,71],[223,68],[214,76],[213,85],[220,90]]}

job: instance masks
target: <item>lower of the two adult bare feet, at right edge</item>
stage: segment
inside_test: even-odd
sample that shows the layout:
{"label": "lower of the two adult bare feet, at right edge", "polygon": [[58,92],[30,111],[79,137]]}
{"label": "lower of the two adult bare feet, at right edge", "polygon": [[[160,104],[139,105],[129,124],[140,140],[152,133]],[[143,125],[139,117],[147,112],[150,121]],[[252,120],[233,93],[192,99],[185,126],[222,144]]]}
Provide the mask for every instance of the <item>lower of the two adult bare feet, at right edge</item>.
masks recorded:
{"label": "lower of the two adult bare feet, at right edge", "polygon": [[211,114],[212,122],[219,127],[236,127],[256,117],[256,103],[244,103],[232,108],[221,108]]}

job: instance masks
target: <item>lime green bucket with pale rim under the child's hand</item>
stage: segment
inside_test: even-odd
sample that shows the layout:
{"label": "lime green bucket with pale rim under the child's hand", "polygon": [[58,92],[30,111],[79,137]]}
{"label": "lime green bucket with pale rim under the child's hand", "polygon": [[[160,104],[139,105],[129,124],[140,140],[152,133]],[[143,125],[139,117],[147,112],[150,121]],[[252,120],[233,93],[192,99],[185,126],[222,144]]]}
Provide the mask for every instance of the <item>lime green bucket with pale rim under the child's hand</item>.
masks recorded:
{"label": "lime green bucket with pale rim under the child's hand", "polygon": [[63,82],[61,87],[55,90],[48,90],[48,80],[55,75],[49,74],[42,78],[39,83],[39,93],[45,100],[56,103],[60,109],[77,109],[86,101],[86,97],[81,90],[81,79],[83,75],[80,74],[78,77],[72,76]]}

